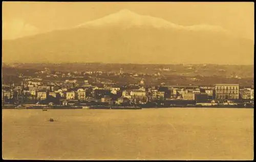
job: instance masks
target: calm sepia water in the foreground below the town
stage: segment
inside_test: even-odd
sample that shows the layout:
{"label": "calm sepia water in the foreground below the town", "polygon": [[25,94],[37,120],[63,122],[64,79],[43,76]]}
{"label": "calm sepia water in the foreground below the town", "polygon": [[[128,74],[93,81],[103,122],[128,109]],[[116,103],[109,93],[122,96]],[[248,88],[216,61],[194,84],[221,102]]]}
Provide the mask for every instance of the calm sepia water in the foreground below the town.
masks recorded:
{"label": "calm sepia water in the foreground below the town", "polygon": [[253,109],[2,112],[4,159],[253,159]]}

